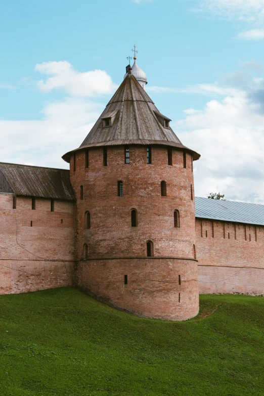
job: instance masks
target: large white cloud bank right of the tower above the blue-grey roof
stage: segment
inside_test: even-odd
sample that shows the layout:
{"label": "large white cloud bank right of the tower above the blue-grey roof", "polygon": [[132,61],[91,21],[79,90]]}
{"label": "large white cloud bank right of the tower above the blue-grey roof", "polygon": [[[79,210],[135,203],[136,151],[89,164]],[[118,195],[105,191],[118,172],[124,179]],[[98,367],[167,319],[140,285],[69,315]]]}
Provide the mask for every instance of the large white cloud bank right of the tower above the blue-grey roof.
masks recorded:
{"label": "large white cloud bank right of the tower above the blue-grey roof", "polygon": [[175,125],[183,144],[201,154],[195,194],[220,191],[227,199],[264,203],[264,114],[244,91],[202,111],[189,109]]}

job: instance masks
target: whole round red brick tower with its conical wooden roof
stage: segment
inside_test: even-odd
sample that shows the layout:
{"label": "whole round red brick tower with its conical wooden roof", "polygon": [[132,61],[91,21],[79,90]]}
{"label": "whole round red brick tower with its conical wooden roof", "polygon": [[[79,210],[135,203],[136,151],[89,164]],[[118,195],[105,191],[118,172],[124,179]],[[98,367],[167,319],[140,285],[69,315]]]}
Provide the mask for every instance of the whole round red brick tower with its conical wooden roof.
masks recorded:
{"label": "whole round red brick tower with its conical wooden roof", "polygon": [[186,320],[199,311],[199,154],[182,145],[135,75],[128,68],[81,146],[63,156],[77,199],[76,282],[119,309]]}

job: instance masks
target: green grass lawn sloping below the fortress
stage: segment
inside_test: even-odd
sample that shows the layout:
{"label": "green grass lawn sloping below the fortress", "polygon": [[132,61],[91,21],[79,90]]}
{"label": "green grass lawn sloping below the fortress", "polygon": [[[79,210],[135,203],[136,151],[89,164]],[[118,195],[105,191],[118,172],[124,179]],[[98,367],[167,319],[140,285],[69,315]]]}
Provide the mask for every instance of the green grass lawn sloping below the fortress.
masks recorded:
{"label": "green grass lawn sloping below the fortress", "polygon": [[263,396],[264,298],[202,295],[186,322],[75,288],[0,296],[0,395]]}

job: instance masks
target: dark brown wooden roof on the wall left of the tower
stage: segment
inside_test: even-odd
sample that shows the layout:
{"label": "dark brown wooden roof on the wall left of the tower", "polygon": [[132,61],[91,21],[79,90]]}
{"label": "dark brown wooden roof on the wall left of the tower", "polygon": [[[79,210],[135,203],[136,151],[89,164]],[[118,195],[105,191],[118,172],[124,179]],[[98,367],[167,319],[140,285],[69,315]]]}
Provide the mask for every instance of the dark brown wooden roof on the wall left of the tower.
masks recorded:
{"label": "dark brown wooden roof on the wall left of the tower", "polygon": [[0,162],[11,189],[16,195],[75,200],[67,169]]}

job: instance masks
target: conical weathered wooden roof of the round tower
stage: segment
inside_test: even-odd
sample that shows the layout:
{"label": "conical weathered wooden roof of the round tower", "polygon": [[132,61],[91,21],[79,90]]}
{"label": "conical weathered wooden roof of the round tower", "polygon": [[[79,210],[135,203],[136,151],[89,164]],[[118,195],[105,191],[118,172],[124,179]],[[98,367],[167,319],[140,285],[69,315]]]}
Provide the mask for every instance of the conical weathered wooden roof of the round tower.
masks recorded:
{"label": "conical weathered wooden roof of the round tower", "polygon": [[[110,126],[104,120],[110,119]],[[119,145],[165,145],[190,151],[193,159],[200,155],[185,147],[170,127],[165,127],[169,118],[161,114],[133,74],[127,74],[118,90],[107,104],[90,133],[80,147],[81,150],[98,146]],[[73,151],[76,151],[73,150]],[[62,158],[69,162],[70,154]]]}

